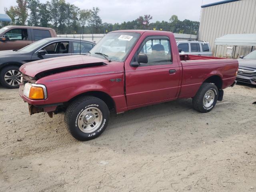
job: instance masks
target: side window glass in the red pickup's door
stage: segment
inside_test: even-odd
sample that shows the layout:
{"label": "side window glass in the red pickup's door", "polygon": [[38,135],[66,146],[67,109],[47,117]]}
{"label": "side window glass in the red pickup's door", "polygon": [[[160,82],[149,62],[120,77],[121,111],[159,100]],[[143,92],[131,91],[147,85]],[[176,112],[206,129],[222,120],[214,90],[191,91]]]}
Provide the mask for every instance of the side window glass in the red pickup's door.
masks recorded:
{"label": "side window glass in the red pickup's door", "polygon": [[148,40],[140,50],[148,56],[148,63],[171,62],[170,42],[166,39]]}

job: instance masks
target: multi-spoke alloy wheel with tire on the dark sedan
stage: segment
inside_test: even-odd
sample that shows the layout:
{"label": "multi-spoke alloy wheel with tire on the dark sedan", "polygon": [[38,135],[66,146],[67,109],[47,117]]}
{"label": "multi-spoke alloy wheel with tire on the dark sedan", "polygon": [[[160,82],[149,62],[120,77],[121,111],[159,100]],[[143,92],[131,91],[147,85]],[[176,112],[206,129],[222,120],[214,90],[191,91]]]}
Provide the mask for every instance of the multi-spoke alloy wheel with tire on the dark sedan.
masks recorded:
{"label": "multi-spoke alloy wheel with tire on the dark sedan", "polygon": [[0,72],[2,86],[10,89],[19,88],[21,83],[21,72],[18,66],[7,66]]}

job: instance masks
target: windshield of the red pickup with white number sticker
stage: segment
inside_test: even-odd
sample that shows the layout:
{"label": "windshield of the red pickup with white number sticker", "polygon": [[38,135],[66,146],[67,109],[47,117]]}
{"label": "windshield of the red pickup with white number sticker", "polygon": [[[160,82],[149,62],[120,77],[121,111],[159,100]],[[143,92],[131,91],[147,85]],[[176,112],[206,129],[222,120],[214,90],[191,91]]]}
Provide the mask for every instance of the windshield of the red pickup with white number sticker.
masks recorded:
{"label": "windshield of the red pickup with white number sticker", "polygon": [[109,60],[123,62],[139,36],[138,33],[129,32],[108,33],[90,50],[90,53],[92,56],[103,58],[104,54]]}

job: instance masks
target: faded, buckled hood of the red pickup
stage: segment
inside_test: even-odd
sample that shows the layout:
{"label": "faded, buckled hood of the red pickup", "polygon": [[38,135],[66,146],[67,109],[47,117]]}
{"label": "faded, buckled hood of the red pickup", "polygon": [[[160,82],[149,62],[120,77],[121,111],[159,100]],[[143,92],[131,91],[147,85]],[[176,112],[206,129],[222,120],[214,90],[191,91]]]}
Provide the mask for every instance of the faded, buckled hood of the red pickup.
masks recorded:
{"label": "faded, buckled hood of the red pickup", "polygon": [[88,65],[88,64],[98,64],[104,63],[106,60],[92,57],[92,56],[85,56],[85,55],[72,55],[72,56],[63,56],[63,57],[55,57],[49,58],[39,61],[30,62],[24,64],[20,67],[20,72],[26,74],[30,77],[34,77],[39,73],[62,69],[62,68],[70,68],[72,66],[79,66],[79,65]]}

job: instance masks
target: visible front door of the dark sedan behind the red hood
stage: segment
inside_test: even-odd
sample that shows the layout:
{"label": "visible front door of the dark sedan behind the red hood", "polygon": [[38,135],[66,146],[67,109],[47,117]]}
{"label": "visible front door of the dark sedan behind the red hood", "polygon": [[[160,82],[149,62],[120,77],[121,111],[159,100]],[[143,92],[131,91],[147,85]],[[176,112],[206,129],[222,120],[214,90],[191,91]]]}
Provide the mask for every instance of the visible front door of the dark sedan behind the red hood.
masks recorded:
{"label": "visible front door of the dark sedan behind the red hood", "polygon": [[[45,50],[45,55],[38,55],[37,52],[39,50]],[[41,59],[48,59],[54,57],[61,57],[61,56],[68,56],[71,55],[71,46],[70,41],[58,41],[52,42],[42,48],[39,48],[34,54],[32,54],[31,60],[41,60]]]}

